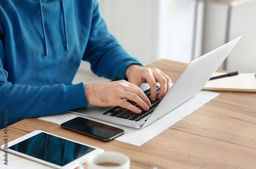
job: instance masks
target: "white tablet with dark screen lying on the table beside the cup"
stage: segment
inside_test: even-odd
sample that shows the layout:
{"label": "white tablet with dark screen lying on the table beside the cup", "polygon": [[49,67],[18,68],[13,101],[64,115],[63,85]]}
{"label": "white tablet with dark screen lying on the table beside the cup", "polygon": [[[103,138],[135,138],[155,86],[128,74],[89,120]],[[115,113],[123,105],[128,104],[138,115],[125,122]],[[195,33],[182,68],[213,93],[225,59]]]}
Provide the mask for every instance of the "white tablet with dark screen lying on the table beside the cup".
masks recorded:
{"label": "white tablet with dark screen lying on the table beside the cup", "polygon": [[104,152],[103,149],[41,130],[8,142],[7,149],[4,146],[1,145],[3,151],[60,169],[76,168],[91,155]]}

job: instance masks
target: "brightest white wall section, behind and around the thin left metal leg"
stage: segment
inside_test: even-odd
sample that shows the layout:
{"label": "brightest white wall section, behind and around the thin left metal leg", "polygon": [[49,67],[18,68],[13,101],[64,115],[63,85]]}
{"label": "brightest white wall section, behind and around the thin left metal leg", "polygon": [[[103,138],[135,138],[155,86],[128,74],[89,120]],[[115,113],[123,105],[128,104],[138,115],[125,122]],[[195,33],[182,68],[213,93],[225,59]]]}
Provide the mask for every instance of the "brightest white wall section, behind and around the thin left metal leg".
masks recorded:
{"label": "brightest white wall section, behind and around the thin left metal leg", "polygon": [[[193,41],[193,26],[195,1],[191,0],[161,0],[159,29],[158,59],[165,58],[179,62],[191,61],[191,51],[194,41],[199,44],[196,55],[201,55],[202,37]],[[202,26],[202,3],[199,5],[199,17],[196,32]],[[191,45],[192,44],[192,45]]]}

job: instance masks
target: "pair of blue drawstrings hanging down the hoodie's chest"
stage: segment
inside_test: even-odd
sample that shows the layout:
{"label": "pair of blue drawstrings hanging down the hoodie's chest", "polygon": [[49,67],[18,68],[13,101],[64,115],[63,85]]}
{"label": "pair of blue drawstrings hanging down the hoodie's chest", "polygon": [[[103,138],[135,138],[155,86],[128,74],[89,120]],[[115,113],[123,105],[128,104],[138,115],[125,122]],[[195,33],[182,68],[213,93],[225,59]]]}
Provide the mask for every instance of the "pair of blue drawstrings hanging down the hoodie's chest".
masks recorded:
{"label": "pair of blue drawstrings hanging down the hoodie's chest", "polygon": [[[61,8],[62,8],[62,16],[63,16],[63,23],[64,23],[64,33],[65,33],[65,39],[66,39],[66,49],[68,51],[67,25],[66,25],[65,8],[64,8],[63,0],[61,0],[60,3],[61,3]],[[47,42],[46,42],[46,36],[45,36],[44,15],[43,15],[43,9],[42,9],[41,0],[38,0],[38,4],[39,4],[40,14],[41,14],[41,18],[42,18],[42,30],[43,30],[43,36],[44,36],[45,54],[48,55]]]}

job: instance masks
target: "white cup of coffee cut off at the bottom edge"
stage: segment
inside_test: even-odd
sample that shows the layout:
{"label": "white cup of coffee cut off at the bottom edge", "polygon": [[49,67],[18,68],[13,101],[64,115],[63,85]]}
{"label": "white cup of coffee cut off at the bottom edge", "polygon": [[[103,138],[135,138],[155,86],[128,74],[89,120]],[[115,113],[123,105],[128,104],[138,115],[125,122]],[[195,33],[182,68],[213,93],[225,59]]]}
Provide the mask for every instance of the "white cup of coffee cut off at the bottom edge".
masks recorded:
{"label": "white cup of coffee cut off at the bottom edge", "polygon": [[[122,153],[114,151],[104,151],[101,154],[92,156],[87,161],[87,169],[130,169],[130,158]],[[84,169],[81,163],[79,169]],[[105,163],[106,165],[98,165]],[[116,165],[119,164],[119,165]]]}

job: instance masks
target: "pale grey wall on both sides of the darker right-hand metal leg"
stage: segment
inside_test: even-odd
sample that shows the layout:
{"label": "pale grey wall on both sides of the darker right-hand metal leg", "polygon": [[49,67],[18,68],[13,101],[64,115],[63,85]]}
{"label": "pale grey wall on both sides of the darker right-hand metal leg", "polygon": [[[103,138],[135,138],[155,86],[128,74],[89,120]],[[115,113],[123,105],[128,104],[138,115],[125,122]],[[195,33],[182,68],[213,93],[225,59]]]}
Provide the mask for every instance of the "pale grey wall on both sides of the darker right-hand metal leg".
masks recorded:
{"label": "pale grey wall on both sides of the darker right-hand metal leg", "polygon": [[[227,58],[227,70],[247,73],[256,65],[256,1],[233,7],[231,10],[229,41],[240,35],[239,41]],[[225,44],[227,6],[220,3],[205,4],[204,22],[214,25],[205,32],[202,54]],[[220,67],[220,69],[222,66]],[[254,70],[256,72],[256,70]]]}

